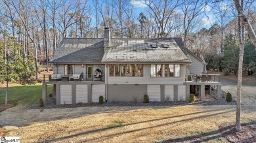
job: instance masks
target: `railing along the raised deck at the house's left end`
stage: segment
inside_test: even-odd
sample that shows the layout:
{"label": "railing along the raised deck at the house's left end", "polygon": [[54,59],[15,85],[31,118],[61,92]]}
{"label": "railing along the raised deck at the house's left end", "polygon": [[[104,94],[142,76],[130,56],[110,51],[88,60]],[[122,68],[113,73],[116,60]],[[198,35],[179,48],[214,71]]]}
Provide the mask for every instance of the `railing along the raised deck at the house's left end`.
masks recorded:
{"label": "railing along the raised deck at the house's left end", "polygon": [[54,76],[51,77],[51,74],[43,74],[43,82],[83,82],[83,81],[105,81],[105,74],[79,74],[79,78],[73,78],[73,74],[69,75],[60,75],[60,78]]}

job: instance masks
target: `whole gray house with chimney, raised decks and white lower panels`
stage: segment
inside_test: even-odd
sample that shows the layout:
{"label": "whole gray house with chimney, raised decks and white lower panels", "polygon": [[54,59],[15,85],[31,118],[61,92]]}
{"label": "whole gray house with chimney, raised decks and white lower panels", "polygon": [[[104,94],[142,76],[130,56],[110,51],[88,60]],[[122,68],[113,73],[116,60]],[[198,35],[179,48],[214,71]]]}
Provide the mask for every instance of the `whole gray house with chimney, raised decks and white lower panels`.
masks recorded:
{"label": "whole gray house with chimney, raised decks and white lower panels", "polygon": [[[56,104],[105,101],[188,101],[198,88],[201,100],[205,85],[216,86],[219,76],[203,74],[202,59],[184,48],[181,38],[112,39],[110,30],[98,39],[63,39],[51,63],[54,74],[43,82],[54,85]],[[191,74],[190,74],[191,73]]]}

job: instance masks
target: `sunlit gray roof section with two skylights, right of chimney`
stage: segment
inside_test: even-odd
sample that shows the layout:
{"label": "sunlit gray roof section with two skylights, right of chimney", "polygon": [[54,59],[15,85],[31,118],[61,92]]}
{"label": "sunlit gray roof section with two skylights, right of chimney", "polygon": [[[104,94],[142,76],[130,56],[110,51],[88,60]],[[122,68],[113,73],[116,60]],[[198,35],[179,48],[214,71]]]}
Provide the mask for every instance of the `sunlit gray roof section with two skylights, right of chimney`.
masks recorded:
{"label": "sunlit gray roof section with two skylights, right of chimney", "polygon": [[[182,40],[181,40],[182,41]],[[181,42],[179,41],[179,42]],[[158,44],[152,48],[151,44]],[[169,48],[163,48],[168,44]],[[181,43],[179,43],[181,44]],[[112,39],[105,48],[102,62],[190,62],[173,38],[168,39]]]}

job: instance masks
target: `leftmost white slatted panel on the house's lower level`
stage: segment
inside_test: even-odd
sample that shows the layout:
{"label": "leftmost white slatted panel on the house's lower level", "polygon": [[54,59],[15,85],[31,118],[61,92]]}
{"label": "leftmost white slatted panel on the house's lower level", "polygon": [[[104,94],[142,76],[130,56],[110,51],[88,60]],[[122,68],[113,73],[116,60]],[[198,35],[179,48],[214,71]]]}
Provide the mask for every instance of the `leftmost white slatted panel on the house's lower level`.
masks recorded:
{"label": "leftmost white slatted panel on the house's lower level", "polygon": [[60,104],[72,104],[71,85],[60,85]]}

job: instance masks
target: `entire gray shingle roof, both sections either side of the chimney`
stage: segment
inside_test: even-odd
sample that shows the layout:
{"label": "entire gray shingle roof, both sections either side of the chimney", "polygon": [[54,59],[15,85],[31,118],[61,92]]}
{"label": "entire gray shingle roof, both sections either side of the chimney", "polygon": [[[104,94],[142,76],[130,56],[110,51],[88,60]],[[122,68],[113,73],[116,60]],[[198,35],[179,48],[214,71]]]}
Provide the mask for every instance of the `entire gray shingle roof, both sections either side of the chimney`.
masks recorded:
{"label": "entire gray shingle roof, both sections either side of the chimney", "polygon": [[[157,44],[158,48],[152,48]],[[163,48],[162,44],[168,44]],[[104,48],[104,39],[63,39],[54,53],[52,63],[100,62],[190,62],[182,52],[182,39],[111,39]]]}

